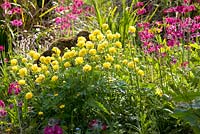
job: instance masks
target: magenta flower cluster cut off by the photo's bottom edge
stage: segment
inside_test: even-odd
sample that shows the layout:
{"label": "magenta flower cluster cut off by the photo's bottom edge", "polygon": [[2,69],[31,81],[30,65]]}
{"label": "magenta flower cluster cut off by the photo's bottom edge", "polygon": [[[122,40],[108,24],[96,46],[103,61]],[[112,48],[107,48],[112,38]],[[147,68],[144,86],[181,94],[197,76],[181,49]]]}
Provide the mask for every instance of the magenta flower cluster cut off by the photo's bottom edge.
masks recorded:
{"label": "magenta flower cluster cut off by the photo's bottom edge", "polygon": [[44,134],[63,134],[63,130],[60,126],[46,126],[44,128]]}

